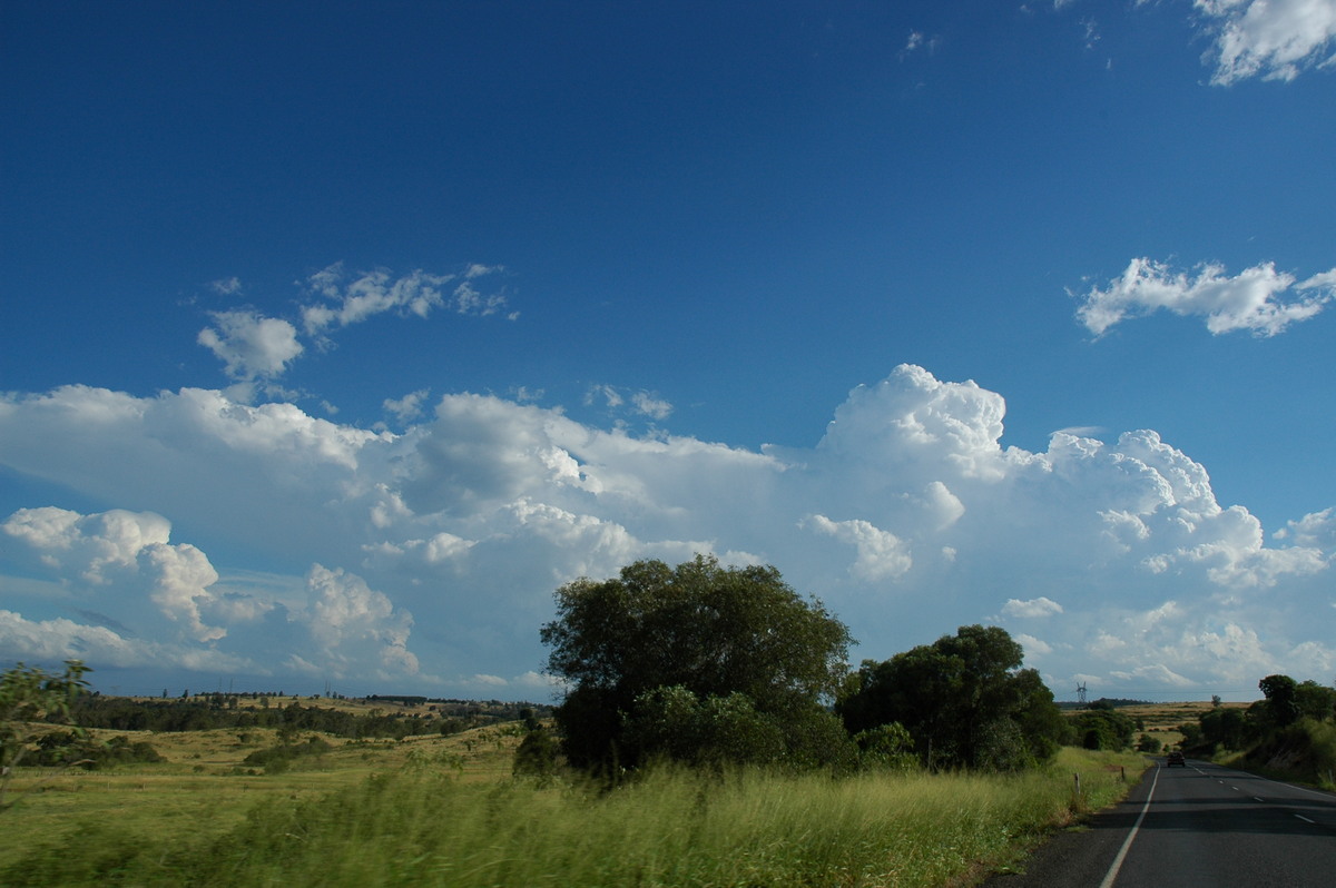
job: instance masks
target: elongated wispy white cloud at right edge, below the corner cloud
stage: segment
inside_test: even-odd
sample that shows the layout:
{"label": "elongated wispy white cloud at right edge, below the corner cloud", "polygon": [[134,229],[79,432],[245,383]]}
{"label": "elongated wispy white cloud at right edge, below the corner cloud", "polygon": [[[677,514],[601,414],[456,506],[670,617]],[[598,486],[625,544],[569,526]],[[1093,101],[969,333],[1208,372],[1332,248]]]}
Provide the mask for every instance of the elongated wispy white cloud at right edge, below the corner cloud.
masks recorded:
{"label": "elongated wispy white cloud at right edge, below the corner cloud", "polygon": [[[1293,291],[1296,298],[1283,296]],[[1105,288],[1092,287],[1077,308],[1081,323],[1096,337],[1113,326],[1161,308],[1205,318],[1213,334],[1246,330],[1275,337],[1292,323],[1319,314],[1336,296],[1336,268],[1297,280],[1271,262],[1229,276],[1222,266],[1204,264],[1196,274],[1140,258]]]}

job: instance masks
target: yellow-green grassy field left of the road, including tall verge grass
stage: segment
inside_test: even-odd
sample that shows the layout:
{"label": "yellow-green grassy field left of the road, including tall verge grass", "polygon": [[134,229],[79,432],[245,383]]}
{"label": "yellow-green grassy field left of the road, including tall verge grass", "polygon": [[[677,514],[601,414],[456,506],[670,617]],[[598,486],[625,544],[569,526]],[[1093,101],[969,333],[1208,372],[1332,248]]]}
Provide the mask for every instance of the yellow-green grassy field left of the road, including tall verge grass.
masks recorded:
{"label": "yellow-green grassy field left of the road, including tall verge grass", "polygon": [[512,780],[505,726],[326,737],[277,774],[242,761],[273,733],[243,733],[131,734],[167,761],[51,781],[0,815],[0,884],[959,885],[1142,766],[1067,749],[1014,777],[663,770],[601,792]]}

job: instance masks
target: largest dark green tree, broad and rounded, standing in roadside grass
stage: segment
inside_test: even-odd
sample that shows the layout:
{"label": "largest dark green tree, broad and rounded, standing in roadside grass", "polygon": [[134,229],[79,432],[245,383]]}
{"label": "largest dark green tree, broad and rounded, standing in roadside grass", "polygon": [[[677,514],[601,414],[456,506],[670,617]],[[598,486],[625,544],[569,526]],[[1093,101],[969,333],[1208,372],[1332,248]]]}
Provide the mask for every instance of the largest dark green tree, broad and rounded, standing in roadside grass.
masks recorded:
{"label": "largest dark green tree, broad and rounded, standing in roadside grass", "polygon": [[775,568],[637,561],[561,586],[556,604],[541,637],[568,685],[556,718],[573,765],[823,760],[848,745],[822,705],[844,676],[848,629]]}

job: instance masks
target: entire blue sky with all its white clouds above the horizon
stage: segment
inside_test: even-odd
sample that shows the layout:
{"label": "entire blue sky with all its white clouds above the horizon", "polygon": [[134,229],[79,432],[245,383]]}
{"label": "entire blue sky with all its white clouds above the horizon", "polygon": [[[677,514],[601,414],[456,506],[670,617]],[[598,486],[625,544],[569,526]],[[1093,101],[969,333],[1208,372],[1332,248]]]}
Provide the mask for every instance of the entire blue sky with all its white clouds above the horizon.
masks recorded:
{"label": "entire blue sky with all its white clouds above the horizon", "polygon": [[540,698],[774,564],[1058,697],[1336,676],[1336,1],[5,3],[0,660]]}

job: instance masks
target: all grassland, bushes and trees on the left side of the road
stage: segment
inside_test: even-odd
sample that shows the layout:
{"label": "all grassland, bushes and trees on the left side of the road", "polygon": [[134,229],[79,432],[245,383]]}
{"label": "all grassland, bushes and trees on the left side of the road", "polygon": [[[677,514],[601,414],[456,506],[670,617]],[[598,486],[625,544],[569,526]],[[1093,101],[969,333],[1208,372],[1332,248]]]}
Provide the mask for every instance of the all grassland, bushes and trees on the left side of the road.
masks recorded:
{"label": "all grassland, bushes and trees on the left side of the road", "polygon": [[[1136,720],[1063,716],[995,626],[850,672],[772,568],[568,584],[542,638],[561,705],[466,729],[406,697],[27,709],[0,884],[963,885],[1148,764]],[[56,724],[77,712],[104,726]],[[162,729],[199,722],[226,726]]]}

